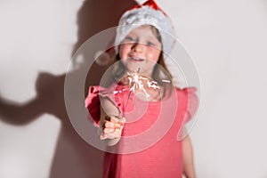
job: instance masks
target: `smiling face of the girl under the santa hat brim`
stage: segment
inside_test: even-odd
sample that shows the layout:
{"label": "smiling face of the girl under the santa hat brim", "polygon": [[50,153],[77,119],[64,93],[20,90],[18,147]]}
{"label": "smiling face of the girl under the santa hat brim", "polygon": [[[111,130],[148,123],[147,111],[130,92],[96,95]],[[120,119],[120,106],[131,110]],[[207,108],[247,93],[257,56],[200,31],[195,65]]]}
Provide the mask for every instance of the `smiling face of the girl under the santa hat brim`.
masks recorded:
{"label": "smiling face of the girl under the santa hat brim", "polygon": [[149,25],[134,28],[120,44],[119,56],[128,71],[151,76],[158,62],[162,45],[155,28]]}

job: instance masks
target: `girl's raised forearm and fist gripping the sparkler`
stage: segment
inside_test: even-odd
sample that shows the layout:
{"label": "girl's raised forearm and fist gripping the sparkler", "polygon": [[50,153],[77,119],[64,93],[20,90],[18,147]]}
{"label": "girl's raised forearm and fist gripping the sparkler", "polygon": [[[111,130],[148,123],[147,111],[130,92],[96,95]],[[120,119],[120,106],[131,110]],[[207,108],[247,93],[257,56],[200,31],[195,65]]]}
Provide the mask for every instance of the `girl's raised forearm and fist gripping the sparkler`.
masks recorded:
{"label": "girl's raised forearm and fist gripping the sparkler", "polygon": [[[106,142],[108,146],[117,144],[120,140],[123,125],[117,122],[119,111],[117,107],[109,101],[109,99],[103,99],[101,101],[101,121],[102,134],[100,139]],[[121,123],[125,122],[124,120]]]}

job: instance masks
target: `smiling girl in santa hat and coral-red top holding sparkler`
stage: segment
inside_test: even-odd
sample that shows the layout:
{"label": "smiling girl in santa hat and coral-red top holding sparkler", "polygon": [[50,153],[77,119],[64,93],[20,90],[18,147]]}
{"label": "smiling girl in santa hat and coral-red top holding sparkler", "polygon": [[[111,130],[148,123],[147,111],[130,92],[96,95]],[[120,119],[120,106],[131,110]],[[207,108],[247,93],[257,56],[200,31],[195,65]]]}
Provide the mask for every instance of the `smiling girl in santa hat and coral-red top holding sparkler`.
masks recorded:
{"label": "smiling girl in santa hat and coral-red top holding sparkler", "polygon": [[198,99],[193,88],[172,84],[164,60],[170,34],[172,23],[151,0],[119,21],[112,84],[91,86],[85,101],[107,144],[103,177],[195,177],[190,138],[177,138]]}

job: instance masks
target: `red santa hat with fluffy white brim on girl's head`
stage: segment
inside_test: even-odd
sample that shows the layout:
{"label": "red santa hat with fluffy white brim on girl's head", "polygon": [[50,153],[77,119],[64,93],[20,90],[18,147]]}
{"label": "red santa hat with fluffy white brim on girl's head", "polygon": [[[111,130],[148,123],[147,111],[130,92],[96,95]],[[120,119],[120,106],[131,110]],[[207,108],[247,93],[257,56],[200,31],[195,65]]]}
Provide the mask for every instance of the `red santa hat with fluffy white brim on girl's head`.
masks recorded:
{"label": "red santa hat with fluffy white brim on girl's head", "polygon": [[126,11],[118,22],[117,35],[115,38],[115,50],[125,36],[134,28],[142,25],[151,25],[158,28],[162,38],[163,52],[171,53],[175,44],[174,26],[171,20],[166,16],[153,0],[148,0],[144,4],[136,5],[134,8]]}

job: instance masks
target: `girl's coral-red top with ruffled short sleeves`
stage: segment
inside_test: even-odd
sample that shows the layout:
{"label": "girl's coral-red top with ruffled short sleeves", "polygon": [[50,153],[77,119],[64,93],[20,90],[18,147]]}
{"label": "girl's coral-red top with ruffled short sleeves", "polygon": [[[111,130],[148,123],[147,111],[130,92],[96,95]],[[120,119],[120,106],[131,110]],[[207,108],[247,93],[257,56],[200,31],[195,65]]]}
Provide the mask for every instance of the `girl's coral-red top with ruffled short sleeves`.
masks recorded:
{"label": "girl's coral-red top with ruffled short sleeves", "polygon": [[[96,125],[100,119],[99,96],[108,97],[125,113],[122,137],[105,153],[103,177],[182,178],[182,142],[177,137],[198,108],[196,89],[174,88],[161,101],[143,101],[132,93],[126,104],[129,95],[125,88],[91,86],[85,100]],[[115,90],[125,92],[114,93]]]}

